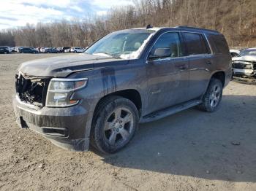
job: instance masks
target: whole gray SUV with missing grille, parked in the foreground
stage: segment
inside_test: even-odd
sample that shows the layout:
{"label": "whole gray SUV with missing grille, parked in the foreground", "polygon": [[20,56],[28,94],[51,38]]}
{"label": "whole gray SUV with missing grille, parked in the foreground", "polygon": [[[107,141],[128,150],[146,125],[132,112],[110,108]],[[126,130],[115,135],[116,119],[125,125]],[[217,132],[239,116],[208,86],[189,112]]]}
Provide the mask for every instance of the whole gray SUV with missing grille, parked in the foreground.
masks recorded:
{"label": "whole gray SUV with missing grille, parked in the foreground", "polygon": [[22,63],[15,119],[66,149],[113,153],[139,122],[197,106],[218,109],[232,75],[227,42],[203,28],[133,28],[80,55]]}

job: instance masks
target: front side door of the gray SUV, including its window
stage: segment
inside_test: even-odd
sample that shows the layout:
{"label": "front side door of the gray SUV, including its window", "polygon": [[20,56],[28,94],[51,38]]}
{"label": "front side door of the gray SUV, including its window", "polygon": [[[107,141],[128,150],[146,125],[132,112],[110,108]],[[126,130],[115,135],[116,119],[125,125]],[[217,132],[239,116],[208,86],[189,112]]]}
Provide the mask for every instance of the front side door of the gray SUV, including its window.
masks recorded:
{"label": "front side door of the gray SUV, including its window", "polygon": [[[154,55],[167,49],[168,55]],[[148,113],[187,101],[189,63],[183,52],[178,32],[160,35],[151,48],[147,58]]]}

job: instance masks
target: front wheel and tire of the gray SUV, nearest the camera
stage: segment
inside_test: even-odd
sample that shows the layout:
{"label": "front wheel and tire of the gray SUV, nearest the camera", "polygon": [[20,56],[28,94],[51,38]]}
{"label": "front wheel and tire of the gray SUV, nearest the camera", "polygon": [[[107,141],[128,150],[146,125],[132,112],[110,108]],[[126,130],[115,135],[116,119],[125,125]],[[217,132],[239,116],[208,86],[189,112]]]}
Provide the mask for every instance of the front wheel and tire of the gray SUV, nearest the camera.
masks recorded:
{"label": "front wheel and tire of the gray SUV, nearest the camera", "polygon": [[106,154],[124,148],[138,129],[138,110],[132,101],[111,96],[101,101],[91,125],[91,146]]}

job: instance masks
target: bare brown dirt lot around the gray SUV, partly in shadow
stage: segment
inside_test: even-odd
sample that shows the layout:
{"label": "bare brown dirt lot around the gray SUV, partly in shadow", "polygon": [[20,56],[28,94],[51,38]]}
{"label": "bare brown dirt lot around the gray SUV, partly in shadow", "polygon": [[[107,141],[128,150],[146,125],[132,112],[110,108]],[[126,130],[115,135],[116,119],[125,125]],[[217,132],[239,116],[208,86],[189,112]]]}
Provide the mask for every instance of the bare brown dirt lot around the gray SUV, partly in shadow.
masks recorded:
{"label": "bare brown dirt lot around the gray SUV, partly in shadow", "polygon": [[19,63],[0,55],[0,190],[256,190],[256,86],[230,82],[220,109],[140,125],[116,155],[59,149],[12,114]]}

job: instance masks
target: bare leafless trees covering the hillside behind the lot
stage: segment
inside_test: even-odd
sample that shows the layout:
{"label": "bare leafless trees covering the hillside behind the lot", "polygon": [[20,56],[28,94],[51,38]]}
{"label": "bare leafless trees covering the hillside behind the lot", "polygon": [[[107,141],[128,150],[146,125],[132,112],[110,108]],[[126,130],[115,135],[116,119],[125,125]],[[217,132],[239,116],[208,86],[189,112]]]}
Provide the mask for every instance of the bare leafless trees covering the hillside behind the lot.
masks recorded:
{"label": "bare leafless trees covering the hillside behind the lot", "polygon": [[28,23],[2,30],[0,45],[87,47],[112,31],[151,24],[214,29],[225,35],[230,47],[256,46],[255,0],[134,0],[134,4],[113,7],[102,17]]}

